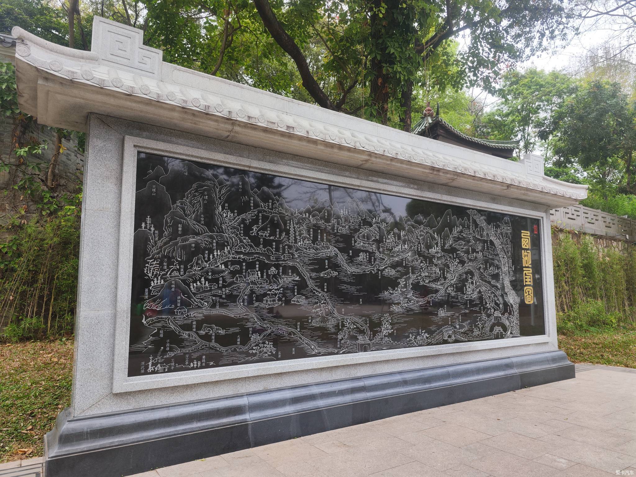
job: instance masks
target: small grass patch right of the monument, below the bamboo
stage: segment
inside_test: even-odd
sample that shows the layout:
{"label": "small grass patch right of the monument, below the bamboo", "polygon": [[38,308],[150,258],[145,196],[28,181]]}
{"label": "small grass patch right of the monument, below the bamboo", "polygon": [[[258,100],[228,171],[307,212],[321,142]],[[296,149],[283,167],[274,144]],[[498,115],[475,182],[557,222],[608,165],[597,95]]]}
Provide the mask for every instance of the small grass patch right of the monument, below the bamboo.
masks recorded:
{"label": "small grass patch right of the monument, below the bamboo", "polygon": [[559,330],[558,347],[572,363],[636,368],[636,326],[620,329]]}

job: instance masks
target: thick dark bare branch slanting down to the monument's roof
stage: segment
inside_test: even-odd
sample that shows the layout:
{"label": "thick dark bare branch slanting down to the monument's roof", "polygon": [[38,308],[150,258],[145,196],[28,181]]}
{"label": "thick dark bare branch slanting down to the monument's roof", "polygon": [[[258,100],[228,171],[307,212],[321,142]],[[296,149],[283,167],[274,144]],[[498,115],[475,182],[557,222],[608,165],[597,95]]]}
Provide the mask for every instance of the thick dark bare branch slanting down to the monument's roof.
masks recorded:
{"label": "thick dark bare branch slanting down to the monument's roof", "polygon": [[315,99],[315,102],[319,104],[319,106],[325,107],[326,109],[336,110],[337,108],[331,102],[326,93],[322,90],[318,82],[315,80],[314,75],[309,69],[307,64],[307,59],[305,59],[305,55],[300,51],[296,42],[287,34],[287,32],[283,29],[282,25],[280,25],[278,18],[276,18],[275,13],[272,11],[272,7],[268,0],[252,0],[254,2],[254,6],[256,6],[256,11],[258,11],[258,15],[263,20],[263,25],[272,38],[278,43],[280,48],[284,50],[294,60],[296,63],[296,67],[298,68],[298,73],[300,73],[300,78],[303,80],[303,86],[307,92]]}

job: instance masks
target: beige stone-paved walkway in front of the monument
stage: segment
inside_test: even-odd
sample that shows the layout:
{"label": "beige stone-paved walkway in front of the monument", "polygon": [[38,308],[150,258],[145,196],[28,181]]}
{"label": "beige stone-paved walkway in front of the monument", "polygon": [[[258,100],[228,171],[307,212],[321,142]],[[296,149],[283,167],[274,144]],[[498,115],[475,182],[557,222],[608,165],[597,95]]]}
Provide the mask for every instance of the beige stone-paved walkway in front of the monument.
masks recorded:
{"label": "beige stone-paved walkway in front of the monument", "polygon": [[576,379],[135,477],[607,477],[617,471],[636,476],[636,370],[577,365]]}

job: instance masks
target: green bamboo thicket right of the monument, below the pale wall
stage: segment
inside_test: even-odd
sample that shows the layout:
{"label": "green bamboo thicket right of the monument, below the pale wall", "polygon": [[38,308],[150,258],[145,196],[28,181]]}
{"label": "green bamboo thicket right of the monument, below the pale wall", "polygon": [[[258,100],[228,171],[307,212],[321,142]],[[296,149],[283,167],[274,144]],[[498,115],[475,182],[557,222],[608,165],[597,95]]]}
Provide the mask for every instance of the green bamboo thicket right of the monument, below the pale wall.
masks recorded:
{"label": "green bamboo thicket right of the monument, below the pale wall", "polygon": [[636,247],[602,249],[591,236],[553,240],[558,326],[563,331],[627,326],[636,321]]}

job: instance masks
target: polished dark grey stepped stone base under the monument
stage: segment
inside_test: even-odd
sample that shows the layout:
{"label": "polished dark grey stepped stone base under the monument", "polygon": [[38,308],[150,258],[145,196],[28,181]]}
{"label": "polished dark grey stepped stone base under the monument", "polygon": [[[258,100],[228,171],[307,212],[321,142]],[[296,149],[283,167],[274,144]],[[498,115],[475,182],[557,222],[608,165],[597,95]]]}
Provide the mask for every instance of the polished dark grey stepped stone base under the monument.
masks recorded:
{"label": "polished dark grey stepped stone base under the monument", "polygon": [[127,476],[570,378],[555,350],[89,417],[67,408],[45,437],[45,477]]}

